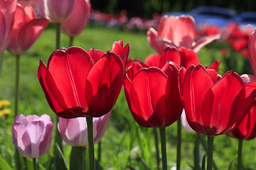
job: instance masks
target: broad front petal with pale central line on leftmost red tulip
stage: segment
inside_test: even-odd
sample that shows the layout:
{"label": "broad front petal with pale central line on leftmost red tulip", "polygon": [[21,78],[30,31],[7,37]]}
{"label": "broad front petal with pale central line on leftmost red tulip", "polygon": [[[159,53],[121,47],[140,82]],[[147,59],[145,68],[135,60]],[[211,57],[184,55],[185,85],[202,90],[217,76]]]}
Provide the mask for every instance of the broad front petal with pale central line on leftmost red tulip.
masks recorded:
{"label": "broad front petal with pale central line on leftmost red tulip", "polygon": [[90,56],[80,47],[54,52],[48,69],[68,108],[82,107],[87,112],[85,79],[92,68]]}

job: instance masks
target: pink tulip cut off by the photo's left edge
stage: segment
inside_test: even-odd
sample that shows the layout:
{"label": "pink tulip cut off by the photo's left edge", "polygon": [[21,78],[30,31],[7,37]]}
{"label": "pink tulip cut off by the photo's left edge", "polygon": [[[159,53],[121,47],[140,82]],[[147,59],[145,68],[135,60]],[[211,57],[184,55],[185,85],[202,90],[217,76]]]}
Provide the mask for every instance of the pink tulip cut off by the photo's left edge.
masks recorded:
{"label": "pink tulip cut off by the photo's left edge", "polygon": [[0,1],[0,53],[9,45],[16,6],[16,0]]}

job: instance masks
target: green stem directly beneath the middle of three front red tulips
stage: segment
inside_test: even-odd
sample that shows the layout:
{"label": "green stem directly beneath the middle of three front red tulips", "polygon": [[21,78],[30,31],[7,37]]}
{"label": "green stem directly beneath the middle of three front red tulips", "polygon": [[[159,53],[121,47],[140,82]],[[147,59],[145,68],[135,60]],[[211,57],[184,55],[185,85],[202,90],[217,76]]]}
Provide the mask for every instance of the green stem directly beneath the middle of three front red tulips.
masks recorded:
{"label": "green stem directly beneath the middle of three front red tulips", "polygon": [[167,159],[166,159],[166,129],[159,128],[161,137],[161,154],[162,154],[162,166],[163,170],[167,170]]}

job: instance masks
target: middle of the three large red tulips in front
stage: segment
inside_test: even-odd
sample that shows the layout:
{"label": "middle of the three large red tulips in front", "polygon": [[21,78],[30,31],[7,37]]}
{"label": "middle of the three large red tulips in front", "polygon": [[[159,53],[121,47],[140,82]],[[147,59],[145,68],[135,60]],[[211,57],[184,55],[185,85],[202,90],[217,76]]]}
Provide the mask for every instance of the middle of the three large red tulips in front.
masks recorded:
{"label": "middle of the three large red tulips in front", "polygon": [[147,128],[171,125],[183,109],[174,62],[166,63],[163,69],[143,68],[135,62],[124,76],[124,93],[132,116]]}

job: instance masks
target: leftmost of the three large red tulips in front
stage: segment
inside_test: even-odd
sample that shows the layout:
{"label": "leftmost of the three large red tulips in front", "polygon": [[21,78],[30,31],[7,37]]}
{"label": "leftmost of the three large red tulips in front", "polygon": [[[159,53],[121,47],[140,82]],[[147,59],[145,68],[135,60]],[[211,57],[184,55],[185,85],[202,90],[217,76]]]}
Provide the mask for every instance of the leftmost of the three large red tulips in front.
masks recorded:
{"label": "leftmost of the three large red tulips in front", "polygon": [[114,52],[70,47],[55,50],[38,79],[50,108],[62,118],[100,117],[117,101],[124,64]]}

